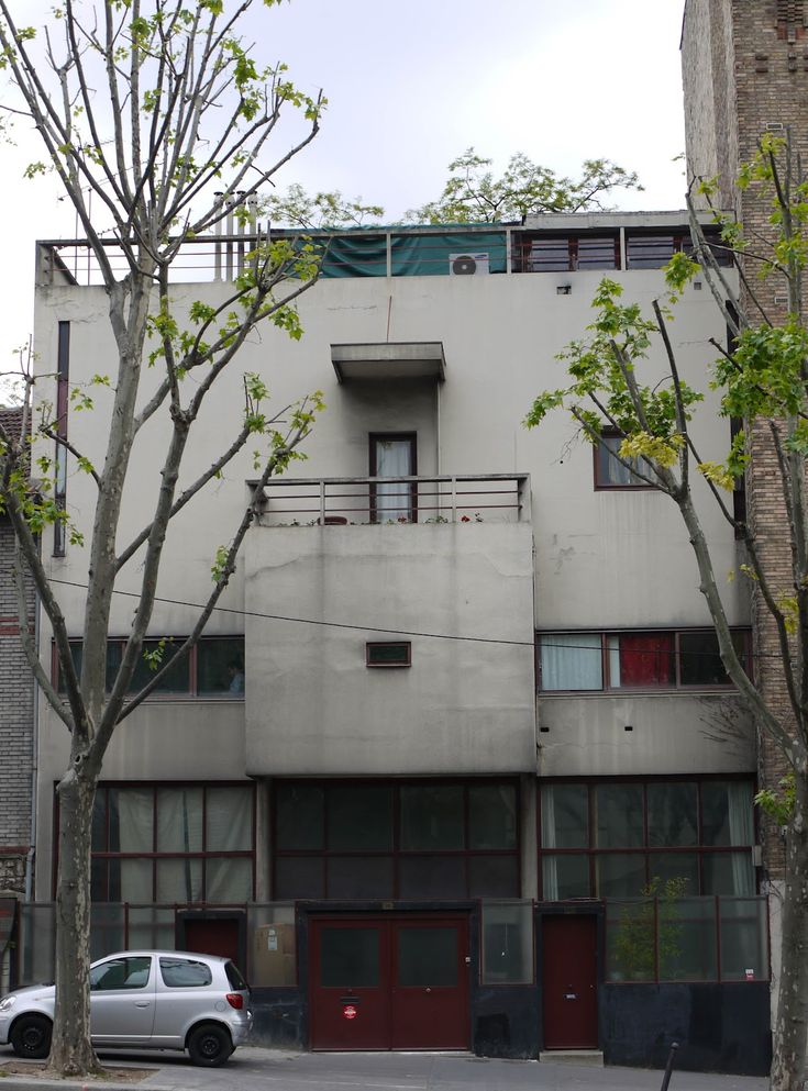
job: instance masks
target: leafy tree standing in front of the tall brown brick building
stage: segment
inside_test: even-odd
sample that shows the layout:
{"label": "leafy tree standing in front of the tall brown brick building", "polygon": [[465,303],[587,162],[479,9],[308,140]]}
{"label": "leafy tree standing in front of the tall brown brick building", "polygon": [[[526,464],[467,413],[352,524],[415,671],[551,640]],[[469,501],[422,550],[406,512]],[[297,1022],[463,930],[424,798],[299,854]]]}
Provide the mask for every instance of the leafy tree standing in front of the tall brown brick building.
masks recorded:
{"label": "leafy tree standing in front of the tall brown brick building", "polygon": [[[801,1091],[806,1077],[808,1028],[808,325],[803,276],[808,260],[808,182],[790,142],[766,135],[739,185],[753,186],[770,207],[767,231],[748,231],[716,213],[726,252],[733,256],[743,298],[733,290],[722,263],[705,240],[693,201],[690,224],[695,260],[677,254],[667,266],[668,293],[653,314],[622,299],[622,285],[601,281],[595,321],[586,339],[569,345],[560,359],[563,387],[540,393],[527,418],[541,425],[550,412],[566,410],[580,435],[600,442],[605,427],[622,437],[618,460],[635,479],[669,497],[688,531],[699,588],[711,615],[721,659],[759,730],[779,749],[788,775],[785,786],[765,786],[759,803],[786,835],[786,878],[782,912],[782,957],[774,1024],[774,1091]],[[702,186],[705,193],[715,183]],[[787,315],[766,313],[751,271],[775,278],[787,292]],[[732,332],[731,347],[712,342],[716,361],[702,382],[686,379],[667,334],[676,302],[696,276],[708,281]],[[733,280],[734,282],[734,280]],[[782,290],[779,287],[776,291]],[[750,300],[744,308],[743,300]],[[654,357],[652,359],[651,357]],[[660,360],[666,361],[660,379]],[[718,391],[720,412],[742,421],[721,461],[701,457],[691,421],[707,386]],[[729,433],[729,428],[728,428]],[[734,513],[731,492],[762,446],[775,455],[783,497],[790,572],[767,564],[761,527]],[[702,530],[697,479],[742,543],[741,578],[750,582],[759,613],[767,616],[779,642],[786,708],[746,673],[732,642],[710,545]],[[778,528],[779,530],[779,528]]]}

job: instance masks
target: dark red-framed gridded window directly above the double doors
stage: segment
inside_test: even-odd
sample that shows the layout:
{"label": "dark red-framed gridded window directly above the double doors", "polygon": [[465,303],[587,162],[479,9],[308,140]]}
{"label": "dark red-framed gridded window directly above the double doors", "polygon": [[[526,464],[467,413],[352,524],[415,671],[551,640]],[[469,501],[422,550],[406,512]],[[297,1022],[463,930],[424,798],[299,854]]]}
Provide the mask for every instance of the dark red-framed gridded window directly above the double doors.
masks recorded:
{"label": "dark red-framed gridded window directly above the double doors", "polygon": [[279,900],[518,898],[516,781],[278,780]]}

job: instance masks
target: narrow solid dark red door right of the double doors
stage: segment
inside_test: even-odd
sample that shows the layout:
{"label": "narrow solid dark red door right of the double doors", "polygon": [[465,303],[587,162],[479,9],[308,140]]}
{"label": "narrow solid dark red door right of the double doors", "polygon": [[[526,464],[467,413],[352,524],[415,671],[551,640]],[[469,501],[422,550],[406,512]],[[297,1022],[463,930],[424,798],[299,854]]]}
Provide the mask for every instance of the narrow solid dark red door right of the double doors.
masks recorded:
{"label": "narrow solid dark red door right of the double doors", "polygon": [[597,1049],[597,917],[546,915],[542,922],[545,1049]]}

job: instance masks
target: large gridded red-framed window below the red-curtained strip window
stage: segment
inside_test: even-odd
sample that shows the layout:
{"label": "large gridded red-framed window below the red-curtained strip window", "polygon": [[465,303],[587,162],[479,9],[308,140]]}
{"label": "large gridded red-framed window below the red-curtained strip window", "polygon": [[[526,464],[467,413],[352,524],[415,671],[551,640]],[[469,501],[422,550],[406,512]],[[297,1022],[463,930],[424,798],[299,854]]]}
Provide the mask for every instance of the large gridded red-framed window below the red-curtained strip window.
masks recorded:
{"label": "large gridded red-framed window below the red-curtained strip window", "polygon": [[541,788],[543,897],[755,893],[751,780]]}

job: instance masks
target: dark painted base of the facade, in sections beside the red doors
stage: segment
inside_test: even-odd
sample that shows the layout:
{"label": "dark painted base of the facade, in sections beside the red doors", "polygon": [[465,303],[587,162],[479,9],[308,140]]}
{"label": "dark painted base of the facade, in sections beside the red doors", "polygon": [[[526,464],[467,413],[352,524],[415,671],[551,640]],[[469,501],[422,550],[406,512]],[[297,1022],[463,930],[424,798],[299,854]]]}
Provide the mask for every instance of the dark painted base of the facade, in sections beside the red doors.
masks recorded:
{"label": "dark painted base of the facade, in sections beside the red doors", "polygon": [[[302,989],[254,989],[254,1042],[308,1048],[308,998]],[[535,1058],[542,1048],[540,994],[534,986],[472,991],[472,1048],[478,1057]],[[600,1027],[607,1065],[665,1067],[672,1042],[676,1068],[766,1076],[772,1062],[768,983],[604,984]]]}

